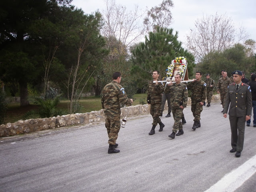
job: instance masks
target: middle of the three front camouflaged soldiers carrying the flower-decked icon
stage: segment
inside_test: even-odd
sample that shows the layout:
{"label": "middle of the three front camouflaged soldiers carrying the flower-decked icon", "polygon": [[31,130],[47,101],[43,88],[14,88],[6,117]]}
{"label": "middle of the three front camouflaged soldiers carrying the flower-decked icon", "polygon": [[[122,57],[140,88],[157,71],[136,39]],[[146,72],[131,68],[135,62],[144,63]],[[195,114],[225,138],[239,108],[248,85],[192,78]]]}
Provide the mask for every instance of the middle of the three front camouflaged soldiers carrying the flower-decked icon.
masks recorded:
{"label": "middle of the three front camouflaged soldiers carrying the flower-decked icon", "polygon": [[[184,134],[182,129],[182,123],[180,122],[183,109],[187,106],[188,102],[188,89],[184,83],[181,83],[181,75],[175,75],[175,83],[170,82],[165,88],[164,92],[166,94],[170,93],[171,106],[172,106],[172,115],[174,118],[174,125],[172,126],[172,134],[168,137],[175,138],[175,135],[180,136]],[[176,132],[179,132],[176,134]]]}

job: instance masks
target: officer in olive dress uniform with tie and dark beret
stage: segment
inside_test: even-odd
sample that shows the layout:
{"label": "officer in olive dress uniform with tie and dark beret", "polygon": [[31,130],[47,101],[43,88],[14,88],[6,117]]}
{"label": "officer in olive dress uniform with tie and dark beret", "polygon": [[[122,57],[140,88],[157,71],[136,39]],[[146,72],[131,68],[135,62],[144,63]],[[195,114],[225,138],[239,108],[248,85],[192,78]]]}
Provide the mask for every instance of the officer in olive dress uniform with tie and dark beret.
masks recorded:
{"label": "officer in olive dress uniform with tie and dark beret", "polygon": [[252,114],[252,94],[250,86],[242,83],[242,72],[234,71],[232,74],[234,83],[228,85],[223,116],[227,117],[229,107],[232,146],[230,152],[236,152],[236,157],[240,157],[244,146],[245,122]]}

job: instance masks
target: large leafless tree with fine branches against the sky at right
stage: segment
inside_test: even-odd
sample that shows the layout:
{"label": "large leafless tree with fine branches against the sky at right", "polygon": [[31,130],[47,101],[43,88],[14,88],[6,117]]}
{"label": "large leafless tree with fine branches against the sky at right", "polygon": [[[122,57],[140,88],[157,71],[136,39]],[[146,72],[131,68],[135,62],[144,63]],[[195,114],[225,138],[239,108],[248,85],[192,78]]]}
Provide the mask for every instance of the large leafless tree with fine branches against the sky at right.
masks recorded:
{"label": "large leafless tree with fine branches against the sky at right", "polygon": [[244,30],[240,30],[237,36],[232,19],[225,14],[203,16],[196,20],[195,28],[190,30],[186,46],[195,55],[196,62],[200,62],[210,52],[220,53],[230,48],[234,45],[236,37],[245,40],[242,39]]}

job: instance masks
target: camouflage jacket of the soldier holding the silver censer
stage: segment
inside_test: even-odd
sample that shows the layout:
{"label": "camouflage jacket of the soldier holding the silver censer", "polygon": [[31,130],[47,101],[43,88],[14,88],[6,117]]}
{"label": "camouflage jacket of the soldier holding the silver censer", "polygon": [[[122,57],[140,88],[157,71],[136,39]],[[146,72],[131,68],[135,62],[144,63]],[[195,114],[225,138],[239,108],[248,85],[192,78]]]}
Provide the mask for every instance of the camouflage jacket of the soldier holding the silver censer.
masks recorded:
{"label": "camouflage jacket of the soldier holding the silver censer", "polygon": [[101,93],[101,104],[105,115],[120,115],[120,104],[131,106],[124,88],[116,81],[107,84]]}

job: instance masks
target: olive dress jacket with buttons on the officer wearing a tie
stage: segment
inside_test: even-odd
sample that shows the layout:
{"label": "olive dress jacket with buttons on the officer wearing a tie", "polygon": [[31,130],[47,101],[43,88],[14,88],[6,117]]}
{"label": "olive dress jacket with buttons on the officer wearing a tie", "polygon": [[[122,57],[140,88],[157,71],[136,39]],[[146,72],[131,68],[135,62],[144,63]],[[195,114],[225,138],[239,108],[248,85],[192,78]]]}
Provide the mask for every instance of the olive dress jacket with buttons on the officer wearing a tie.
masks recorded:
{"label": "olive dress jacket with buttons on the officer wearing a tie", "polygon": [[[230,108],[228,112],[229,105]],[[252,114],[252,94],[250,86],[241,83],[238,90],[236,90],[235,83],[228,85],[228,93],[226,96],[223,114],[227,112],[230,116],[235,117],[245,117],[246,115]]]}

